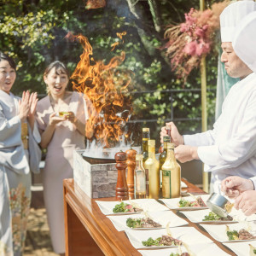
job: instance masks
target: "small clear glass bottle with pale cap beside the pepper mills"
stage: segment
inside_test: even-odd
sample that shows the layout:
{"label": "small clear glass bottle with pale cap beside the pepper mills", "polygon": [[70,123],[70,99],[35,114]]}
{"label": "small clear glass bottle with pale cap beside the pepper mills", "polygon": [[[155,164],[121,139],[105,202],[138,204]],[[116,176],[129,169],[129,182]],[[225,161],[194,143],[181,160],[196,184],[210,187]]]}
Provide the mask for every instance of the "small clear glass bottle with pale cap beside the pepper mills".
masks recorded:
{"label": "small clear glass bottle with pale cap beside the pepper mills", "polygon": [[146,198],[146,172],[143,167],[143,154],[136,154],[134,169],[134,195],[136,199]]}

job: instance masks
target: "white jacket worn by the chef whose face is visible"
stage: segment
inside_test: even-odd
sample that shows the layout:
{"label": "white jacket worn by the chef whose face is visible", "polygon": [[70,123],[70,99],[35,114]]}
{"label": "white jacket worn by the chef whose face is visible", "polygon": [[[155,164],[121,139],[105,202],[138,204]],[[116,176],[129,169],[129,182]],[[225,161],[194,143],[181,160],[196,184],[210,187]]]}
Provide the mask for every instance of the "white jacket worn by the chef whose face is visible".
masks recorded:
{"label": "white jacket worn by the chef whose face is visible", "polygon": [[214,192],[225,177],[256,176],[256,73],[231,87],[212,130],[183,137],[185,145],[198,147]]}

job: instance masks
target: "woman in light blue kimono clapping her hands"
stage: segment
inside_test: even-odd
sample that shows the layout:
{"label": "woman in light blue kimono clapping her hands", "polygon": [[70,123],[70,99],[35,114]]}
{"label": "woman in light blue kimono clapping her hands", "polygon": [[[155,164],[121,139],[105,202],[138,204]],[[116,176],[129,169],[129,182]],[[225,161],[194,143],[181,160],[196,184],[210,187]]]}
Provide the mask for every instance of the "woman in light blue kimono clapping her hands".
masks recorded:
{"label": "woman in light blue kimono clapping her hands", "polygon": [[23,92],[20,99],[10,92],[15,68],[0,52],[0,255],[22,254],[31,201],[28,149],[40,142],[34,123],[37,93]]}

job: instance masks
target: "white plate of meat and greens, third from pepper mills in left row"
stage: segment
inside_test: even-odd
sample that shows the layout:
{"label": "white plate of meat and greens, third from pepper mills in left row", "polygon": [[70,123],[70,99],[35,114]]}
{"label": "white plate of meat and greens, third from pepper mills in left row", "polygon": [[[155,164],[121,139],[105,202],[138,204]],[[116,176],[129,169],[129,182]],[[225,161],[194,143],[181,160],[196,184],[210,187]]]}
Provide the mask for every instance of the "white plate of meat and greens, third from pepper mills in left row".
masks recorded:
{"label": "white plate of meat and greens, third from pepper mills in left row", "polygon": [[192,227],[178,227],[165,230],[125,230],[133,247],[137,249],[155,249],[211,243],[207,236]]}

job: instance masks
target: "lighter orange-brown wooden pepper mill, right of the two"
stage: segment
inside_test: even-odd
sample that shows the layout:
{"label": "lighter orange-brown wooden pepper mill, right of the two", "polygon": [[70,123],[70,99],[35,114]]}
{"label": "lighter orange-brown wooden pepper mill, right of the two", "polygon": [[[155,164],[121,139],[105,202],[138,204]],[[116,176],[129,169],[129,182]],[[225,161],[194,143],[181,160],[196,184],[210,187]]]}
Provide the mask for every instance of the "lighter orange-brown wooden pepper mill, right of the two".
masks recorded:
{"label": "lighter orange-brown wooden pepper mill, right of the two", "polygon": [[127,160],[126,164],[128,166],[128,172],[127,172],[127,186],[128,186],[128,195],[129,199],[134,199],[134,169],[136,166],[136,154],[137,151],[134,149],[128,149],[125,151],[127,154]]}

